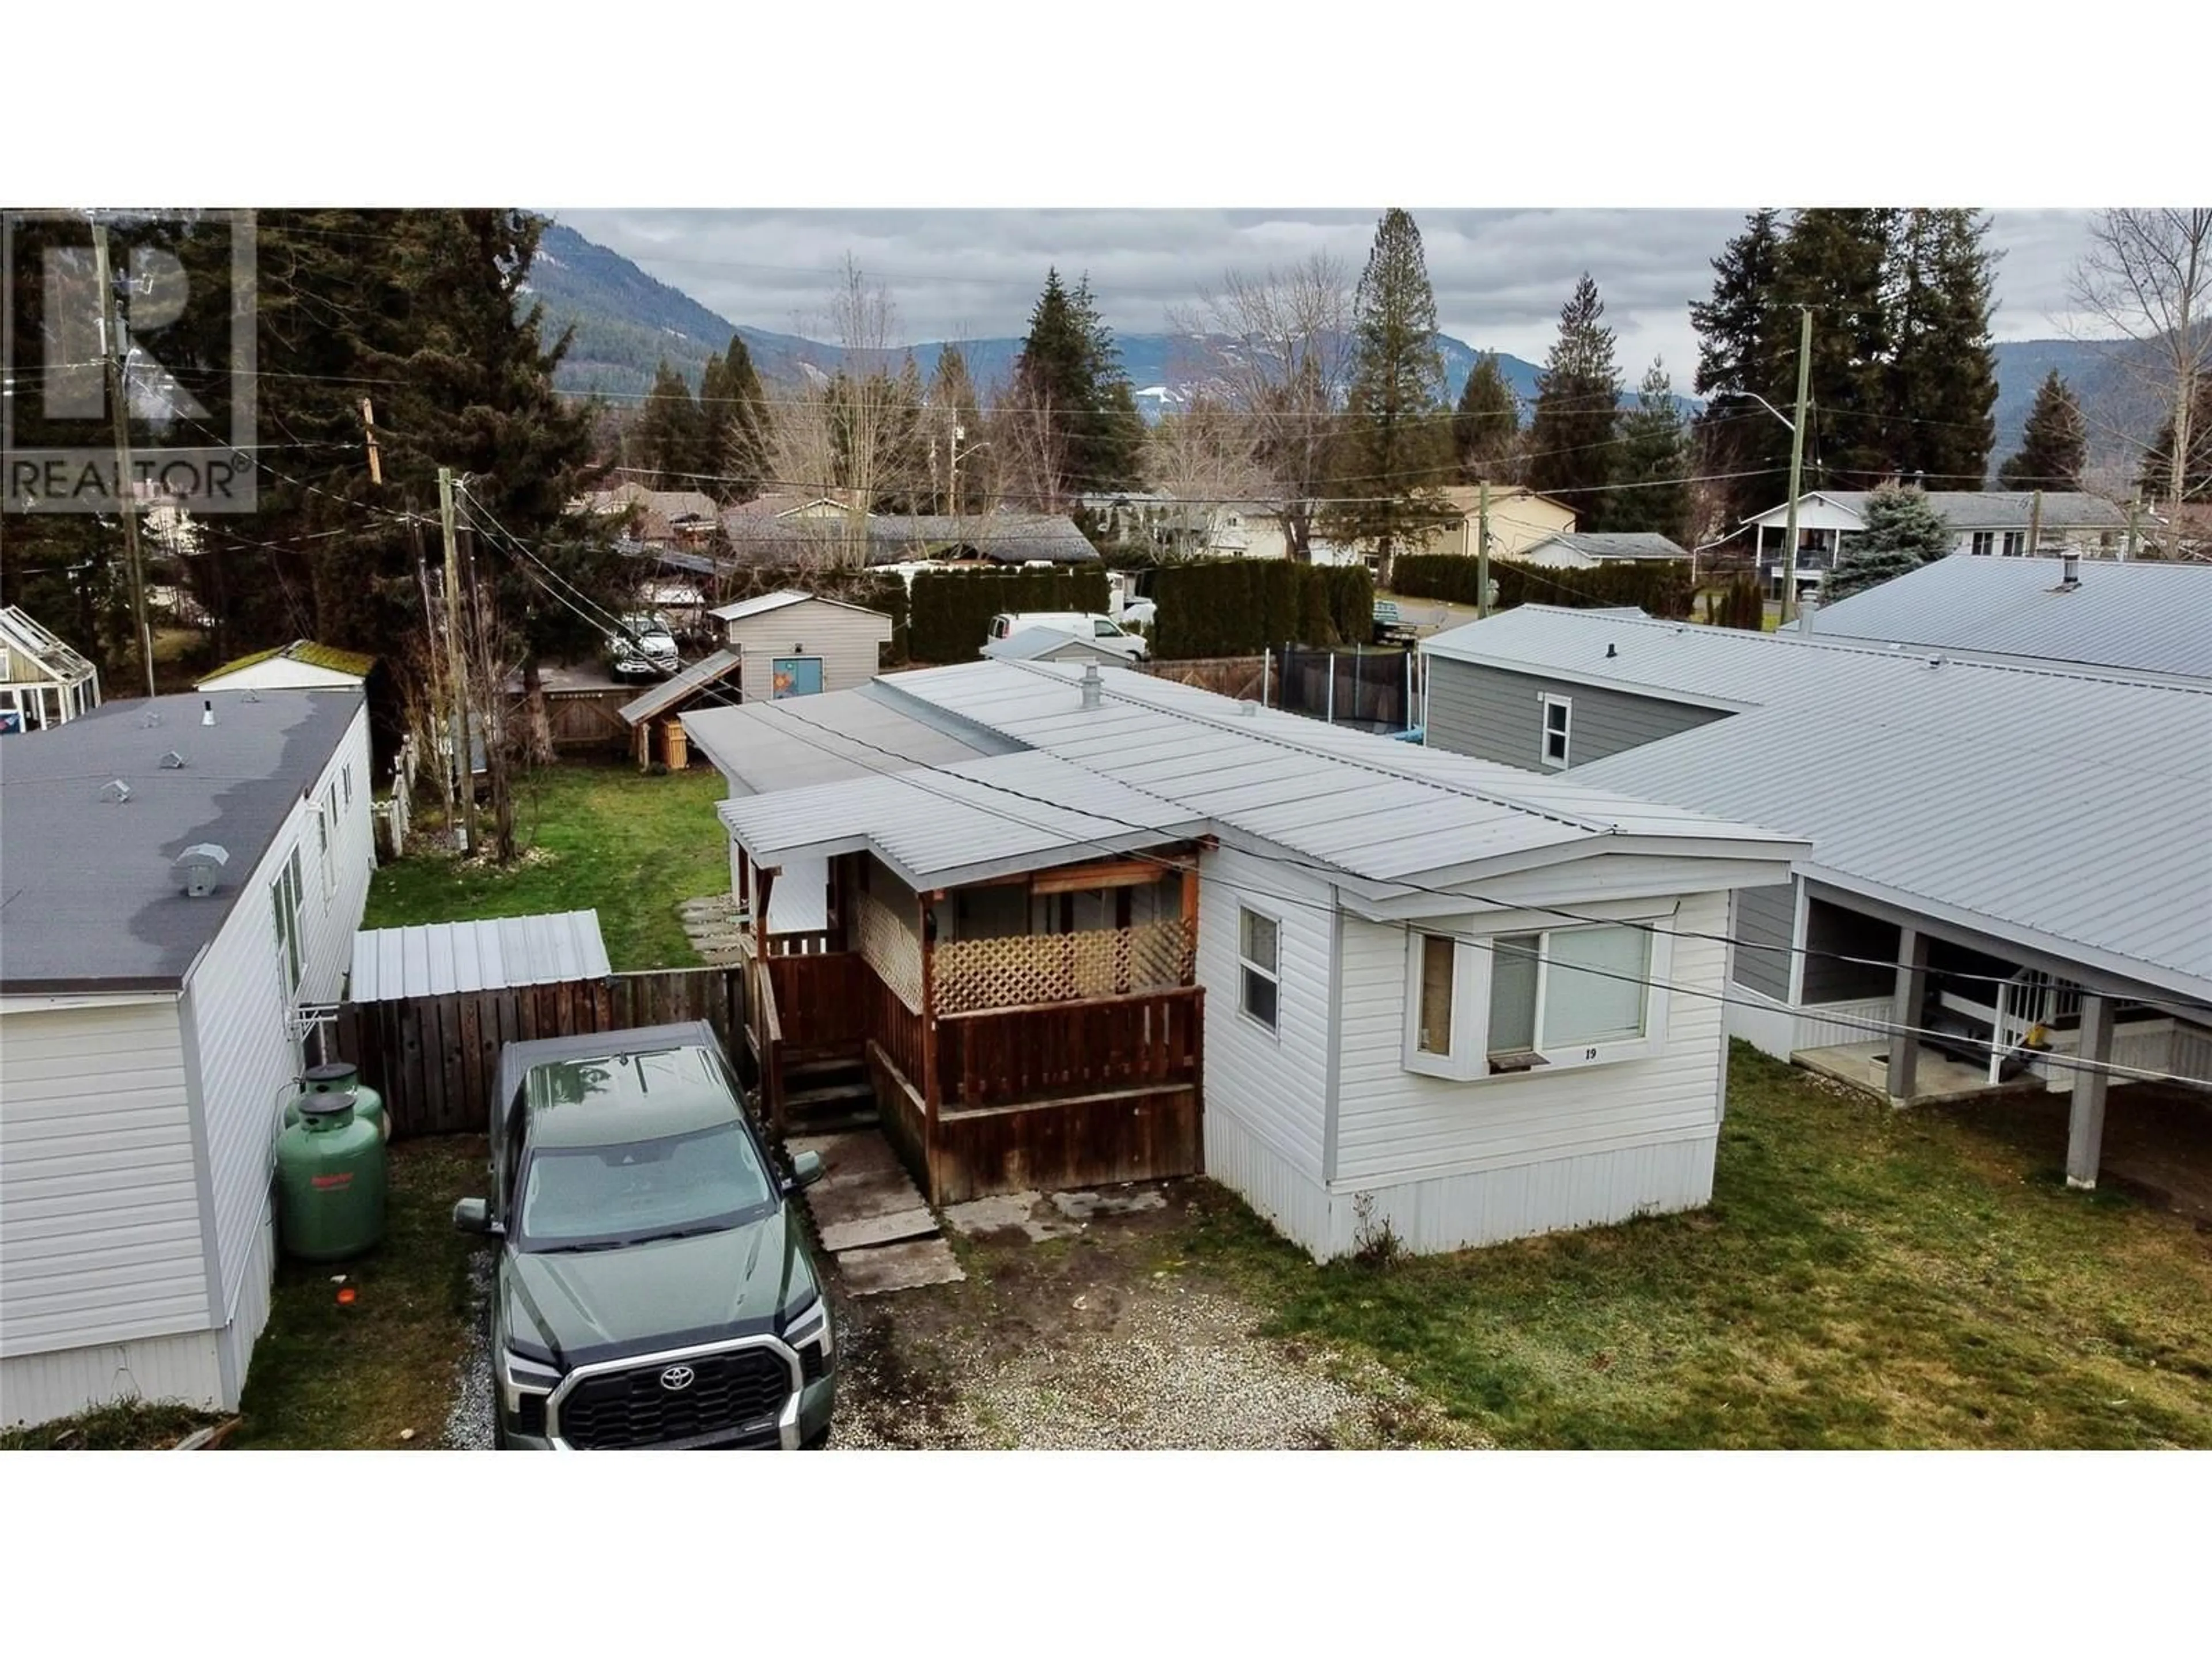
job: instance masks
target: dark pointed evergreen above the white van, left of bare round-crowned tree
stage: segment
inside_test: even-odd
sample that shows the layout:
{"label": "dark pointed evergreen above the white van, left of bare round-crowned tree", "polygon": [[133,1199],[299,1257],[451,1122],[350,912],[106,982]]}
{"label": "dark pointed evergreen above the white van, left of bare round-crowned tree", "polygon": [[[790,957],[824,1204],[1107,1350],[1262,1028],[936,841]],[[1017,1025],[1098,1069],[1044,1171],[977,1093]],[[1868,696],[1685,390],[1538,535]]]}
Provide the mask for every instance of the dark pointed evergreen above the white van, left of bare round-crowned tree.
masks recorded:
{"label": "dark pointed evergreen above the white van, left of bare round-crowned tree", "polygon": [[1062,500],[1137,482],[1144,418],[1088,276],[1066,288],[1057,270],[1046,272],[1013,365],[1011,400],[1042,429],[1042,495]]}

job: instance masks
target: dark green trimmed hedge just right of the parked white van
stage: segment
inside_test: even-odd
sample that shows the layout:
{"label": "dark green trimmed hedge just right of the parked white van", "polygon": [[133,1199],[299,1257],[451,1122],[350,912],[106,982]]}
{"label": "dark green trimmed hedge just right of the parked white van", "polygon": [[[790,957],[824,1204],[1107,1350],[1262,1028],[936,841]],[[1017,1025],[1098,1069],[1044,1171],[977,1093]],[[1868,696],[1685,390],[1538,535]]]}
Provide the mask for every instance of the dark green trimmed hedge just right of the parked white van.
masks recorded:
{"label": "dark green trimmed hedge just right of the parked white van", "polygon": [[1374,633],[1376,584],[1360,564],[1210,560],[1152,577],[1152,655],[1250,657],[1265,646],[1349,646]]}

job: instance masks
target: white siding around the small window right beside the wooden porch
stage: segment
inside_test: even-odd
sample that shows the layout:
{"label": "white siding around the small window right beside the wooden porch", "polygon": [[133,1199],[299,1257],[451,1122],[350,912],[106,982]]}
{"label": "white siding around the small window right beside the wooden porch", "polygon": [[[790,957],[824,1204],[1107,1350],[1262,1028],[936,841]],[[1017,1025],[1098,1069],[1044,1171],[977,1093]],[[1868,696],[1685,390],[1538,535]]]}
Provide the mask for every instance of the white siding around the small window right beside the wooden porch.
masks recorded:
{"label": "white siding around the small window right beside the wooden porch", "polygon": [[[1276,918],[1276,1029],[1237,1006],[1245,907]],[[1332,905],[1327,883],[1232,847],[1199,858],[1199,984],[1206,991],[1206,1133],[1256,1137],[1298,1177],[1323,1179],[1329,1075]],[[1212,1155],[1208,1155],[1212,1168]]]}

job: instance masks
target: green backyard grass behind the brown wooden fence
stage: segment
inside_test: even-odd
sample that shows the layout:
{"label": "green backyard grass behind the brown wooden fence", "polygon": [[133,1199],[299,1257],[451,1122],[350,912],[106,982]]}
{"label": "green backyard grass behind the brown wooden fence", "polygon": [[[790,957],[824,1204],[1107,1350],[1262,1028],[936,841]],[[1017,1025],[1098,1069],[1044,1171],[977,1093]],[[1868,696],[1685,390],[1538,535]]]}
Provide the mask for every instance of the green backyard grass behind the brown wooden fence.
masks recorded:
{"label": "green backyard grass behind the brown wooden fence", "polygon": [[617,973],[697,967],[677,902],[730,889],[730,838],[714,818],[721,774],[644,776],[633,765],[564,761],[515,792],[513,869],[425,852],[376,872],[363,927],[597,909]]}

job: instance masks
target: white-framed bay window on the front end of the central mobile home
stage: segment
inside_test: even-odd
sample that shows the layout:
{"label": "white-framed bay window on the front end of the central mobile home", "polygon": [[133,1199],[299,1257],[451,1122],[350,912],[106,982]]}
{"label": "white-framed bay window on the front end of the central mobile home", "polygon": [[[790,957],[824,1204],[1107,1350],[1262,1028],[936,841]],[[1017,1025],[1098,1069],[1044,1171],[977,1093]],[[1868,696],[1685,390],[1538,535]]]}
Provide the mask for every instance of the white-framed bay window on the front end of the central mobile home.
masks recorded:
{"label": "white-framed bay window on the front end of the central mobile home", "polygon": [[1480,1079],[1655,1053],[1666,947],[1650,925],[1411,936],[1405,1064]]}

